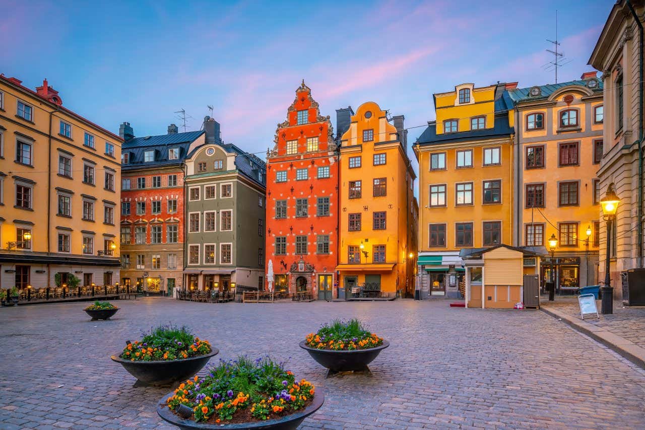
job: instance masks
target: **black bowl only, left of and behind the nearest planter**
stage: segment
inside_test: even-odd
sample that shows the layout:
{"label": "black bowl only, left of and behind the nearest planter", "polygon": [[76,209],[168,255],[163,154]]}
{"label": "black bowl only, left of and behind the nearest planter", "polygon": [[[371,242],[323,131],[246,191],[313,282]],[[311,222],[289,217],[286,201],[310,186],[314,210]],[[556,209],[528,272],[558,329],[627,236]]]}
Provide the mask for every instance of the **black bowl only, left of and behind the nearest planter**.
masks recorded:
{"label": "black bowl only, left of and behind the nearest planter", "polygon": [[[121,364],[130,375],[137,378],[137,385],[165,386],[195,375],[217,353],[219,353],[219,349],[212,348],[210,353],[197,357],[161,361],[131,361],[119,357],[119,354],[110,358]],[[139,382],[144,384],[138,384]]]}

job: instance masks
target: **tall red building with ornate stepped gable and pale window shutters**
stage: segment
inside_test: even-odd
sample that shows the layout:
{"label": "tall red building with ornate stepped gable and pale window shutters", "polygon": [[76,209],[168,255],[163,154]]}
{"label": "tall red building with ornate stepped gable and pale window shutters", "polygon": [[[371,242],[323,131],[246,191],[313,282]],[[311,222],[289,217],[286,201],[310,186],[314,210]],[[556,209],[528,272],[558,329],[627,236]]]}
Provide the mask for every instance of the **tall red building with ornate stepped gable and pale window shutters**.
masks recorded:
{"label": "tall red building with ornate stepped gable and pale window shutters", "polygon": [[266,153],[266,265],[277,293],[336,297],[338,153],[330,117],[303,83]]}

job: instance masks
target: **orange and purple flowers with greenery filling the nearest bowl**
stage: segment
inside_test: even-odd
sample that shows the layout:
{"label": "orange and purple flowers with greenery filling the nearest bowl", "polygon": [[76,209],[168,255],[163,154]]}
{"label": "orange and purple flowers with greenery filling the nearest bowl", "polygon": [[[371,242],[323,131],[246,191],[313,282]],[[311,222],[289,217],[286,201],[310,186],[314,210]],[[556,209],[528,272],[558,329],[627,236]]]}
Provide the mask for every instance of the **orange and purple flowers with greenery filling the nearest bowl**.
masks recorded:
{"label": "orange and purple flowers with greenery filling the nearest bowl", "polygon": [[313,385],[296,381],[284,364],[268,357],[239,357],[221,361],[204,378],[187,380],[166,403],[174,412],[180,405],[192,408],[195,422],[235,424],[292,415],[310,405],[314,396]]}

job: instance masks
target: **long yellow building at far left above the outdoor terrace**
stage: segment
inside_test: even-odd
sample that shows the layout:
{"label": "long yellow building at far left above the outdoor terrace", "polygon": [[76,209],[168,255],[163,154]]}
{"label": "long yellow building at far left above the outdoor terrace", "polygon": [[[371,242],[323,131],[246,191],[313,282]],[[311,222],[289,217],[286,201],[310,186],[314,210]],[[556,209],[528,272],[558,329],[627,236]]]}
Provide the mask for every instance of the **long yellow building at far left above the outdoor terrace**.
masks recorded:
{"label": "long yellow building at far left above the outdoor terrace", "polygon": [[0,75],[0,288],[118,282],[121,142]]}

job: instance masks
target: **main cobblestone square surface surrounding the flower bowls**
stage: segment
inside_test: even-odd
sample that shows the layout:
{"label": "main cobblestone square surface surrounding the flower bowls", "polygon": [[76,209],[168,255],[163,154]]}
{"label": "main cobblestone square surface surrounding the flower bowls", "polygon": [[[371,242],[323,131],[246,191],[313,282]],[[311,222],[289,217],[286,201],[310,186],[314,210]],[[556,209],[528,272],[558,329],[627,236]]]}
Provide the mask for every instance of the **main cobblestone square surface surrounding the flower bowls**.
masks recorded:
{"label": "main cobblestone square surface surrounding the flower bowls", "polygon": [[[326,393],[301,428],[645,427],[645,371],[541,311],[449,308],[446,300],[206,304],[144,298],[90,322],[86,304],[0,309],[0,428],[168,428],[109,356],[155,324],[189,324],[234,358],[269,353]],[[391,342],[373,376],[324,379],[297,344],[358,317]],[[216,357],[217,358],[217,357]]]}

